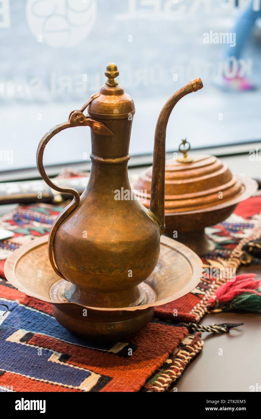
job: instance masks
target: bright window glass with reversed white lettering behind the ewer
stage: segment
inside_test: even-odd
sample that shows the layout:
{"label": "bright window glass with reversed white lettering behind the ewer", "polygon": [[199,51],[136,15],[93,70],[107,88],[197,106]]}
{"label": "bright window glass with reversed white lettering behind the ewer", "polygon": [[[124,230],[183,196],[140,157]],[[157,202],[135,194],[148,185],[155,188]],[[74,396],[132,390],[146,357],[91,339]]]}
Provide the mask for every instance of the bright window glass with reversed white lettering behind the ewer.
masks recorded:
{"label": "bright window glass with reversed white lettering behind the ewer", "polygon": [[[166,149],[260,138],[260,0],[0,0],[1,170],[36,166],[41,137],[105,82],[108,62],[136,106],[130,153],[152,153],[165,101],[178,103]],[[78,162],[90,129],[58,134],[44,163]]]}

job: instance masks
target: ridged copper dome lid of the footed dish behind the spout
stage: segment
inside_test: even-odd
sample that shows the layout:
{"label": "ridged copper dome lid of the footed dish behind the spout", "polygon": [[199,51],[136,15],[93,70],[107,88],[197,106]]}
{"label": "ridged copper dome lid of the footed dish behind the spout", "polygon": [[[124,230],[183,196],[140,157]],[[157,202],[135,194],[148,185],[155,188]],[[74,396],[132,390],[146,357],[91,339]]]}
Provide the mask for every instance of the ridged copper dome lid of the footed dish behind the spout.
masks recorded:
{"label": "ridged copper dome lid of the footed dish behind the spout", "polygon": [[[147,201],[142,201],[147,208],[150,206],[151,178],[152,168],[149,168],[133,185],[138,198],[139,191],[147,190]],[[218,207],[239,197],[244,189],[237,176],[214,156],[197,155],[189,159],[185,155],[166,161],[166,215]]]}

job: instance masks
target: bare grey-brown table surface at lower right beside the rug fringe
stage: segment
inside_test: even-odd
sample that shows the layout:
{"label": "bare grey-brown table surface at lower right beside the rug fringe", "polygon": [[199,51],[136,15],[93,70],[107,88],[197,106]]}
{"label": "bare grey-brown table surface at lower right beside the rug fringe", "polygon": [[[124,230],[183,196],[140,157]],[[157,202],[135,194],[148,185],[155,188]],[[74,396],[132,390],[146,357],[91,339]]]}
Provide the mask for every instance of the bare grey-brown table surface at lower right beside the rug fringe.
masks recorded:
{"label": "bare grey-brown table surface at lower right beside the rug fringe", "polygon": [[[242,267],[238,274],[253,272],[261,279],[261,264]],[[261,315],[256,313],[207,314],[200,324],[244,323],[230,333],[202,334],[204,347],[171,391],[248,392],[261,385]],[[222,349],[222,355],[220,355]],[[176,388],[176,389],[175,389]]]}

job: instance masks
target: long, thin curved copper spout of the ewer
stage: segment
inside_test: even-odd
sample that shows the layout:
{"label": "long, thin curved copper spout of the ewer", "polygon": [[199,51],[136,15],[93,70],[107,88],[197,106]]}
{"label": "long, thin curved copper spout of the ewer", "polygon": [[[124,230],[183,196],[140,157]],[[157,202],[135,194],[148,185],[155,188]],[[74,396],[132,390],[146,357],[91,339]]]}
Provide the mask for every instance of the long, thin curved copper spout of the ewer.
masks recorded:
{"label": "long, thin curved copper spout of the ewer", "polygon": [[150,211],[160,223],[162,233],[165,231],[165,142],[168,119],[174,106],[183,96],[196,92],[202,87],[200,78],[191,80],[168,99],[158,117],[154,139]]}

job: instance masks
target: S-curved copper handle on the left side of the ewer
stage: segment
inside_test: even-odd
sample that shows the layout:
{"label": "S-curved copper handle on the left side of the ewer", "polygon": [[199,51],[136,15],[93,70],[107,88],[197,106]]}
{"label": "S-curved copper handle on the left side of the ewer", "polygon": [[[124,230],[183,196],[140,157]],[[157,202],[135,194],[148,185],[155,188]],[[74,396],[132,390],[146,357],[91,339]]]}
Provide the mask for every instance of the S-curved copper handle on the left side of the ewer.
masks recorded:
{"label": "S-curved copper handle on the left side of the ewer", "polygon": [[47,173],[44,169],[43,164],[43,155],[44,155],[44,149],[48,142],[51,140],[54,135],[58,134],[58,132],[63,131],[64,129],[71,128],[71,127],[84,127],[89,126],[91,129],[93,129],[96,134],[100,135],[114,135],[113,132],[109,128],[107,128],[103,123],[97,122],[94,119],[90,119],[89,115],[84,115],[83,111],[88,106],[88,104],[97,97],[98,94],[93,95],[88,102],[85,103],[83,108],[80,111],[72,111],[69,116],[69,121],[64,122],[63,124],[56,125],[54,128],[50,129],[47,134],[44,135],[44,137],[39,142],[39,146],[36,153],[36,160],[37,160],[37,168],[41,175],[41,177],[44,179],[44,181],[47,183],[48,186],[50,186],[52,189],[58,192],[65,192],[67,194],[72,194],[73,199],[72,202],[70,202],[67,207],[65,207],[62,212],[58,215],[57,219],[54,221],[50,234],[49,234],[49,240],[48,240],[48,255],[49,260],[51,262],[52,268],[54,269],[54,272],[59,275],[59,277],[66,279],[63,277],[57,266],[54,262],[54,255],[53,255],[53,248],[54,248],[54,238],[55,234],[59,228],[59,226],[62,224],[65,219],[72,214],[72,212],[78,207],[80,202],[80,195],[78,191],[74,188],[66,188],[64,186],[59,186],[54,184],[51,179],[47,176]]}

